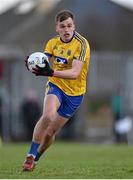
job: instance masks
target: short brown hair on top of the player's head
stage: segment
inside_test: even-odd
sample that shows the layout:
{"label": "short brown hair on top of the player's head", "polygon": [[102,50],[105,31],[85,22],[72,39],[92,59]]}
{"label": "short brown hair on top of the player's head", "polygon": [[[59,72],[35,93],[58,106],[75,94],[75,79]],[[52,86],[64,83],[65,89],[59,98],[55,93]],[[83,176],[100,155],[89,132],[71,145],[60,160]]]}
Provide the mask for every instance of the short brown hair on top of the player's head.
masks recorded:
{"label": "short brown hair on top of the player's head", "polygon": [[62,22],[68,18],[72,18],[74,20],[74,14],[69,10],[62,10],[56,14],[55,22]]}

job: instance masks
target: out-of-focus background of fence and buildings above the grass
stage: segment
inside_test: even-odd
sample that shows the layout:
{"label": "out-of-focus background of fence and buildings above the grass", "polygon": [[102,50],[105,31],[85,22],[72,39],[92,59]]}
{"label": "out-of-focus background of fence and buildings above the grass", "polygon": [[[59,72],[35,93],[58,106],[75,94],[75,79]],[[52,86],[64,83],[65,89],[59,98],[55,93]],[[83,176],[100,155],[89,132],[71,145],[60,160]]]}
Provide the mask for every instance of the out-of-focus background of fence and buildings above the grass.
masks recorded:
{"label": "out-of-focus background of fence and buildings above the grass", "polygon": [[47,78],[28,72],[24,59],[56,35],[62,9],[75,14],[91,61],[84,102],[59,139],[133,144],[133,0],[0,1],[1,140],[31,140]]}

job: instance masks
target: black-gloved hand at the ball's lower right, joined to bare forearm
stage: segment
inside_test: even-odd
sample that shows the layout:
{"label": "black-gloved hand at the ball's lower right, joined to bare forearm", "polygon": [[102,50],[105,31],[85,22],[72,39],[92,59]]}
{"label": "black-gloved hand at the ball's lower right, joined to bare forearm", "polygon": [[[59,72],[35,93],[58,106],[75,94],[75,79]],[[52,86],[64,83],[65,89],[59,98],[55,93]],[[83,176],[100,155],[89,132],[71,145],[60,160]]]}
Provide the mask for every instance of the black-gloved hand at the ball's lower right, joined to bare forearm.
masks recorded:
{"label": "black-gloved hand at the ball's lower right, joined to bare forearm", "polygon": [[49,62],[45,61],[45,67],[39,67],[36,65],[36,68],[33,68],[32,73],[36,76],[53,76],[54,70],[50,67]]}

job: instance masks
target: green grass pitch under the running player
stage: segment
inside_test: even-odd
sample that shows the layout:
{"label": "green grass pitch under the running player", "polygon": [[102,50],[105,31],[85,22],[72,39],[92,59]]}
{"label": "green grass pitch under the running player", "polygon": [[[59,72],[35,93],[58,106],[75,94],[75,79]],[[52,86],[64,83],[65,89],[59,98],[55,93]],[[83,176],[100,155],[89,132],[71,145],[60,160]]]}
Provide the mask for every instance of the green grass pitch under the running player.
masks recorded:
{"label": "green grass pitch under the running player", "polygon": [[0,179],[133,178],[133,146],[56,142],[40,159],[35,171],[22,172],[28,146],[0,147]]}

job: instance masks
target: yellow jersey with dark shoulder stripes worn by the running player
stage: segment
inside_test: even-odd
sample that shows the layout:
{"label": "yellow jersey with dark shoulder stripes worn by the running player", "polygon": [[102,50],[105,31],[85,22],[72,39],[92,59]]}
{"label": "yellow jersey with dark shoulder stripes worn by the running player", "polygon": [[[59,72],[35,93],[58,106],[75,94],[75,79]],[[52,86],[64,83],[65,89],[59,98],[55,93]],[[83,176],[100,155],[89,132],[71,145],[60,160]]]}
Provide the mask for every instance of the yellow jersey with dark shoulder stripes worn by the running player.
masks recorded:
{"label": "yellow jersey with dark shoulder stripes worn by the running player", "polygon": [[51,57],[53,69],[63,71],[72,68],[73,60],[82,61],[83,67],[80,75],[76,79],[63,79],[58,77],[49,77],[52,82],[63,90],[67,95],[78,96],[86,92],[86,79],[90,61],[90,47],[88,41],[75,32],[70,42],[61,41],[56,36],[48,41],[45,54]]}

